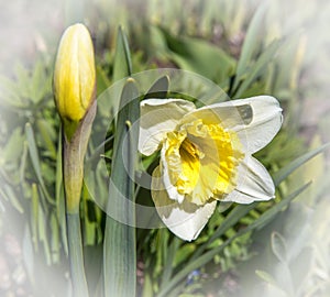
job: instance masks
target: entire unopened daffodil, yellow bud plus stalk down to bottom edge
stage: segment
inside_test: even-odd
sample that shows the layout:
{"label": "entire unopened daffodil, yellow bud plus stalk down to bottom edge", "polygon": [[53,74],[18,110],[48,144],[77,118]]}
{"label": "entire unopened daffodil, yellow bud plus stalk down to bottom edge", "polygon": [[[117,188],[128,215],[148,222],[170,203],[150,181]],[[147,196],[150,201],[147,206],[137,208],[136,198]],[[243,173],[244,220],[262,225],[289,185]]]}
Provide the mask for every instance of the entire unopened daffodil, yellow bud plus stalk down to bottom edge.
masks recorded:
{"label": "entire unopened daffodil, yellow bud plus stalk down to bottom edge", "polygon": [[73,296],[88,296],[84,268],[79,205],[86,154],[96,116],[96,69],[92,41],[84,24],[64,32],[55,62],[55,105],[63,123],[63,182]]}

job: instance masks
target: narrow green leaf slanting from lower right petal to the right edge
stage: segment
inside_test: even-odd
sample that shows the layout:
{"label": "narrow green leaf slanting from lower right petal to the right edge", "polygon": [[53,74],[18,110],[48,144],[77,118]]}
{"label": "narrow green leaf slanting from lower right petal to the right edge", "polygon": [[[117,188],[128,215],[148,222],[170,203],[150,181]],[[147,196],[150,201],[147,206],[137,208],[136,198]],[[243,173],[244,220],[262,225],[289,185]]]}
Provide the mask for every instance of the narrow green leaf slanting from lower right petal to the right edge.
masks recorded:
{"label": "narrow green leaf slanting from lower right petal to the right edge", "polygon": [[328,150],[330,147],[330,142],[321,145],[320,147],[312,150],[306,154],[304,154],[302,156],[297,157],[296,160],[294,160],[292,163],[289,163],[288,165],[286,165],[285,167],[283,167],[282,169],[279,169],[278,172],[276,172],[273,176],[274,179],[274,184],[276,186],[278,186],[284,179],[286,179],[294,170],[296,170],[298,167],[300,167],[301,165],[304,165],[307,161],[309,161],[310,158],[315,157],[316,155],[324,152],[326,150]]}

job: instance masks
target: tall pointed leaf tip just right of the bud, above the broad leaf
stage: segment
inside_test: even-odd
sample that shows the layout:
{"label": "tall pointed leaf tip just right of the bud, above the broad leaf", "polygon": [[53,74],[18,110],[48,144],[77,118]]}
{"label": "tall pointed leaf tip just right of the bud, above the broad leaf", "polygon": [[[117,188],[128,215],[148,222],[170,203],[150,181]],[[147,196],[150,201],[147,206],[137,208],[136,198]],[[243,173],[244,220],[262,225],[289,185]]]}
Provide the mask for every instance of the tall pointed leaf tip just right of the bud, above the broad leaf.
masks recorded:
{"label": "tall pointed leaf tip just right of the bud, above the broad leaf", "polygon": [[116,54],[113,61],[113,81],[129,77],[132,74],[132,61],[125,33],[118,30]]}

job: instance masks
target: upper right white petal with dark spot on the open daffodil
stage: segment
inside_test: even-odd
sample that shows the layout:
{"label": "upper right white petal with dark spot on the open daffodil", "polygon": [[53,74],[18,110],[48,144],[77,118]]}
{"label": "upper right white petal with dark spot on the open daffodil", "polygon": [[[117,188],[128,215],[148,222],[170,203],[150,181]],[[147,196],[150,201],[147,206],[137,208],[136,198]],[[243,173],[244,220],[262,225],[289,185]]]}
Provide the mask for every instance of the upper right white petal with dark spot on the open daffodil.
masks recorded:
{"label": "upper right white petal with dark spot on the open daffodil", "polygon": [[280,129],[283,117],[278,101],[271,96],[257,96],[200,108],[184,121],[204,119],[219,122],[224,129],[235,131],[250,154],[267,145]]}

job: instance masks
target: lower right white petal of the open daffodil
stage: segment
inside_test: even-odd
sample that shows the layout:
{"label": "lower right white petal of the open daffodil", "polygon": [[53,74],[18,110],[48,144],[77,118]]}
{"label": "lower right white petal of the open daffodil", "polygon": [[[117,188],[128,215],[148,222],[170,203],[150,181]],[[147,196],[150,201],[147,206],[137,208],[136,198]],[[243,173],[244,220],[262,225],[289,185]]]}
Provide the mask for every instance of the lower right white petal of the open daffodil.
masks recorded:
{"label": "lower right white petal of the open daffodil", "polygon": [[266,168],[254,157],[248,156],[240,164],[238,185],[222,201],[251,204],[275,197],[275,186]]}

